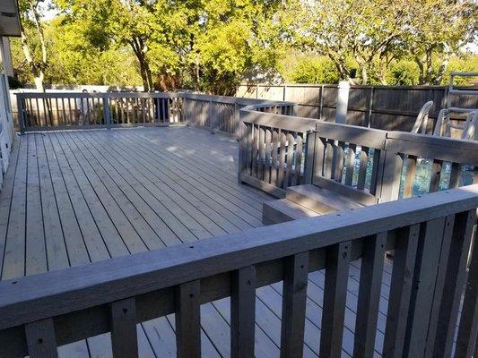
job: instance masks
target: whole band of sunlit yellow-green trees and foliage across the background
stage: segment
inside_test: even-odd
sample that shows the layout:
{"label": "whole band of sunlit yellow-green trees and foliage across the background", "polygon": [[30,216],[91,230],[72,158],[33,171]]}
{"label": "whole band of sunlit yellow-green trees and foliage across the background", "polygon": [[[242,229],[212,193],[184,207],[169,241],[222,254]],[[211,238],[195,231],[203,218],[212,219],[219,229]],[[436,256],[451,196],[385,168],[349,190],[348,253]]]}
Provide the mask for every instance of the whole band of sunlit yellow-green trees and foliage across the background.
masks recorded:
{"label": "whole band of sunlit yellow-green trees and foliage across the background", "polygon": [[[43,4],[43,7],[37,6]],[[58,15],[41,20],[45,5]],[[239,81],[447,83],[477,71],[473,0],[20,0],[21,81],[232,94]],[[41,36],[40,36],[41,35]],[[39,73],[41,72],[41,73]]]}

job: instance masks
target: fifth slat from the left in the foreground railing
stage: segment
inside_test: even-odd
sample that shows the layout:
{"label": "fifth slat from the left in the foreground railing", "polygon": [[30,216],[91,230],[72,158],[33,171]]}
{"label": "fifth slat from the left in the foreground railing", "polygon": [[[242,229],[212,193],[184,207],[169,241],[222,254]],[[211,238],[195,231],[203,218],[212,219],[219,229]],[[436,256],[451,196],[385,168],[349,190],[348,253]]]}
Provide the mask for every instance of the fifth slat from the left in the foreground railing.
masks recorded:
{"label": "fifth slat from the left in the foreground railing", "polygon": [[306,320],[309,252],[284,259],[281,357],[301,357]]}

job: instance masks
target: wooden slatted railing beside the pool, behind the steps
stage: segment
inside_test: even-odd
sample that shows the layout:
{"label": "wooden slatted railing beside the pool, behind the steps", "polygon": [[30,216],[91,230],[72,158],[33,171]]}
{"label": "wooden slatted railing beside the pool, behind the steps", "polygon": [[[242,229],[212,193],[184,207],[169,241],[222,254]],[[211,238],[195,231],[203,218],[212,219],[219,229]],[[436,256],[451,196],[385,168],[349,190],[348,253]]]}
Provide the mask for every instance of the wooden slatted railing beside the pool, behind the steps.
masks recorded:
{"label": "wooden slatted railing beside the pool, behind the steps", "polygon": [[239,181],[277,197],[314,183],[369,205],[478,183],[478,142],[240,111]]}

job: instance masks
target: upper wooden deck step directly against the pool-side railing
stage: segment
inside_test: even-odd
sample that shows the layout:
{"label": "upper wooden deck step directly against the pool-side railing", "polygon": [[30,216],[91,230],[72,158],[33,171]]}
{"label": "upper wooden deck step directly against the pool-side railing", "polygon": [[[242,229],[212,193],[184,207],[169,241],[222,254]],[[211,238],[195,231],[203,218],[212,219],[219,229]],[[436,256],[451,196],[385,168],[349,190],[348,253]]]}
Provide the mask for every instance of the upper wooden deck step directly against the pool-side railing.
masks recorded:
{"label": "upper wooden deck step directly against the pool-side railing", "polygon": [[285,198],[306,209],[321,214],[348,209],[359,209],[362,207],[361,204],[343,195],[312,184],[290,186],[287,188]]}

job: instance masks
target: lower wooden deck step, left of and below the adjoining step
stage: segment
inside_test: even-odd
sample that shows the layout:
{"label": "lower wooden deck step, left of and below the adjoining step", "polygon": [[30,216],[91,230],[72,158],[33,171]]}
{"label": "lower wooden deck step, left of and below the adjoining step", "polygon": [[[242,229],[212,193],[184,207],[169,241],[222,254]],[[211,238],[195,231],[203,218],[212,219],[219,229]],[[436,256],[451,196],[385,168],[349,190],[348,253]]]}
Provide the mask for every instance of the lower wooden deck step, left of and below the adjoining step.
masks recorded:
{"label": "lower wooden deck step, left of and below the adjoining step", "polygon": [[298,218],[317,217],[321,213],[309,210],[287,199],[264,201],[262,222],[264,225],[273,225],[292,221]]}

